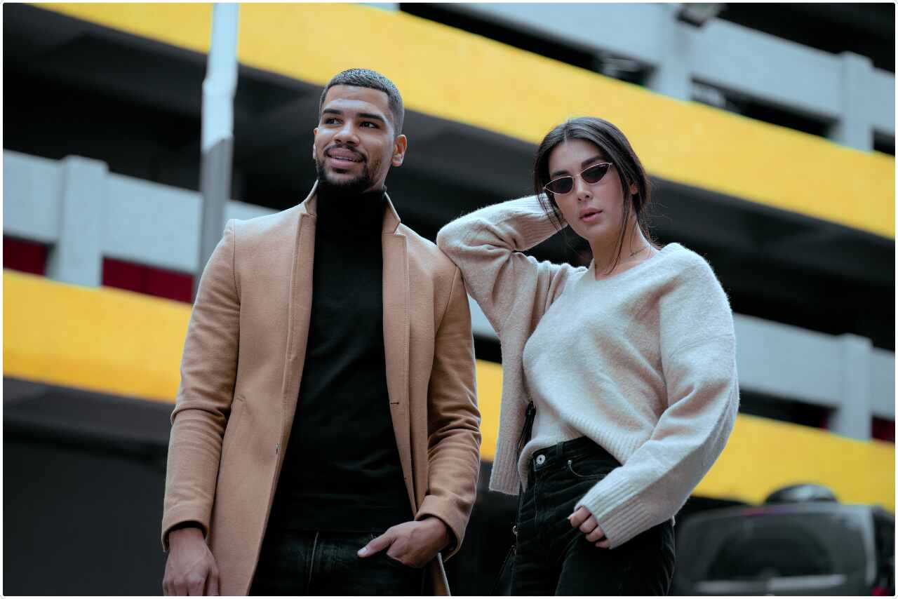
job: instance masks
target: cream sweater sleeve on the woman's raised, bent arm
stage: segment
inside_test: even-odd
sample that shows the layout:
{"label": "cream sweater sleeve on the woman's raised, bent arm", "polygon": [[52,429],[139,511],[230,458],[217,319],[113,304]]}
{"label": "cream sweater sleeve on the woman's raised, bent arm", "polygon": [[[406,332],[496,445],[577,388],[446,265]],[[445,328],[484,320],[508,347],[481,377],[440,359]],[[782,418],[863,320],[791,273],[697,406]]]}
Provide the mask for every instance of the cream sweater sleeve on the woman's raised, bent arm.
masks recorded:
{"label": "cream sweater sleeve on the woman's raised, bent arm", "polygon": [[577,270],[522,253],[557,232],[539,199],[529,196],[454,220],[437,233],[436,244],[462,270],[468,292],[501,338],[514,307],[533,305],[539,318]]}

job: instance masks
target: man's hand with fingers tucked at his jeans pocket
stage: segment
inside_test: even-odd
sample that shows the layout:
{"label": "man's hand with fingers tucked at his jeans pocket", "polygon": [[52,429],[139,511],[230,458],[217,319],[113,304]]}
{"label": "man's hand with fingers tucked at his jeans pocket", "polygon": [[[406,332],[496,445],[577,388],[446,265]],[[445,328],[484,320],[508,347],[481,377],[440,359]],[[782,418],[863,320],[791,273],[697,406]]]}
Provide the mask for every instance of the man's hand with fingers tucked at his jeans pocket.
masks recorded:
{"label": "man's hand with fingers tucked at his jeans pocket", "polygon": [[368,558],[386,550],[387,556],[412,568],[424,568],[427,562],[449,544],[449,529],[442,520],[427,517],[418,522],[403,522],[387,529],[358,550],[358,557]]}

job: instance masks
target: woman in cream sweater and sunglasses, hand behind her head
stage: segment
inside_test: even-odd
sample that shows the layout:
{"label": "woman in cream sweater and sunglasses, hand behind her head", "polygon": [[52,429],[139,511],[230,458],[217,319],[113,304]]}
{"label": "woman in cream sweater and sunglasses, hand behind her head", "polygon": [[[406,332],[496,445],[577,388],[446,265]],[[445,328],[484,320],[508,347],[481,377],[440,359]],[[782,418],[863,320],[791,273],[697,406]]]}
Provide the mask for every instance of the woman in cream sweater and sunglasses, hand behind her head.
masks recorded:
{"label": "woman in cream sweater and sunglasses, hand behind her head", "polygon": [[[732,313],[705,260],[650,241],[647,175],[611,123],[552,129],[534,183],[437,236],[502,343],[489,488],[523,489],[512,594],[664,595],[674,514],[735,421]],[[565,225],[588,267],[522,253]]]}

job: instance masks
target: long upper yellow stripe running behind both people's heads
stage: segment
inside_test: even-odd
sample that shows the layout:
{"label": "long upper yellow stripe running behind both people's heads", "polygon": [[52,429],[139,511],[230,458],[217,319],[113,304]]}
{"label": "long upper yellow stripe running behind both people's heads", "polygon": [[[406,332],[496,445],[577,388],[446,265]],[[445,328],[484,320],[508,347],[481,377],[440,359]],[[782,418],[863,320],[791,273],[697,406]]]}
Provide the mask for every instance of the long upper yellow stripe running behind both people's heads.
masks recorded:
{"label": "long upper yellow stripe running behind both people's heads", "polygon": [[[207,51],[208,4],[40,4]],[[894,238],[894,157],[862,153],[405,13],[356,4],[242,4],[244,65],[313,84],[352,66],[389,76],[406,106],[536,144],[595,115],[627,134],[649,172]],[[414,151],[414,139],[409,147]]]}

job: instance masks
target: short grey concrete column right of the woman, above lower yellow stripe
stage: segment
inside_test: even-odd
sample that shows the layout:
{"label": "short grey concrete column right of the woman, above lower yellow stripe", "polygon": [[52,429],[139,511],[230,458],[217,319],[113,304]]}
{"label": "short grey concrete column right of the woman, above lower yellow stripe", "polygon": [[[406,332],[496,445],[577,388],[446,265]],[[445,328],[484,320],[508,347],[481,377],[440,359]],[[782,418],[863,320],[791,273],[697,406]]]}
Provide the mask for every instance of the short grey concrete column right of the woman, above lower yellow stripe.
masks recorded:
{"label": "short grey concrete column right of the woman, above lower yellow stripe", "polygon": [[841,335],[841,405],[832,412],[830,430],[837,435],[868,440],[873,406],[873,343],[866,337]]}

